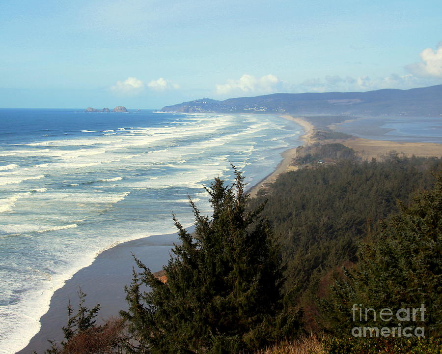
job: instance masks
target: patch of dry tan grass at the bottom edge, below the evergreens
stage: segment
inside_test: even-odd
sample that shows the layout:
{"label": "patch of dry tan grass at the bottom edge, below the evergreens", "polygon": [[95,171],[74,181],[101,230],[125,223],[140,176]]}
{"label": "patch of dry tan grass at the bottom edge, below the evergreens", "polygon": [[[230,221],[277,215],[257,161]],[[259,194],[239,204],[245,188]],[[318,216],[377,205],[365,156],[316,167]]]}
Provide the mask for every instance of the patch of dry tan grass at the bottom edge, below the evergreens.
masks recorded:
{"label": "patch of dry tan grass at the bottom edge, below the evergreens", "polygon": [[283,342],[256,354],[326,354],[320,339],[311,335],[292,342]]}

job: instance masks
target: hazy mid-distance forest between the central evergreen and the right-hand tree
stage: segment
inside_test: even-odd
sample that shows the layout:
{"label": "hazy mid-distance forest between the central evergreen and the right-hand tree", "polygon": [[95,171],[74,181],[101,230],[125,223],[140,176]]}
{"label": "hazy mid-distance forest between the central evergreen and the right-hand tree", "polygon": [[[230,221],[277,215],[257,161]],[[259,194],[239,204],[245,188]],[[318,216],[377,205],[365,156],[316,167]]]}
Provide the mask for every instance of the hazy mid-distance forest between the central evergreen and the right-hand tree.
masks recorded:
{"label": "hazy mid-distance forest between the central evergreen and the right-hand tree", "polygon": [[263,215],[281,235],[287,287],[298,284],[299,298],[334,267],[356,263],[358,242],[398,211],[397,200],[431,187],[431,172],[441,169],[438,158],[392,153],[384,161],[340,161],[280,175],[251,207],[268,200]]}

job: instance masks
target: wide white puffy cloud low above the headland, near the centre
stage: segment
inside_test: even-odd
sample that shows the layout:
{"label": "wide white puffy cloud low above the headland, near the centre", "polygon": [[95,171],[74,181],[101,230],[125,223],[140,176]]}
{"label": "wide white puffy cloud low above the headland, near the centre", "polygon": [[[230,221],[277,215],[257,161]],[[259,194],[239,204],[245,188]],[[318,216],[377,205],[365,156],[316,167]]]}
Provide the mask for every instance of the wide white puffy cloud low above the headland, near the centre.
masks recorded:
{"label": "wide white puffy cloud low above the headland, near the centre", "polygon": [[270,93],[275,92],[280,84],[281,81],[272,74],[260,78],[244,74],[239,80],[228,79],[225,84],[216,85],[216,90],[221,95],[232,92]]}

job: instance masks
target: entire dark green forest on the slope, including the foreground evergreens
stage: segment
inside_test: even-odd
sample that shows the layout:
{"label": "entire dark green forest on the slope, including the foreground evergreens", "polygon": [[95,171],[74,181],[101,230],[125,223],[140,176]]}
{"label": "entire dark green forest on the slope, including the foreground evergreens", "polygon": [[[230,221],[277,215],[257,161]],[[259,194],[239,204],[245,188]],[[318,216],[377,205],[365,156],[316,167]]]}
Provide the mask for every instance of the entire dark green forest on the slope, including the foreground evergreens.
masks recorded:
{"label": "entire dark green forest on the slope, including the foreground evergreens", "polygon": [[[193,234],[174,216],[181,243],[162,277],[137,259],[130,308],[106,324],[80,293],[48,353],[441,353],[442,160],[315,151],[329,162],[280,175],[257,198],[235,168],[231,185],[215,178],[211,215],[190,201]],[[388,322],[407,325],[405,338],[373,337],[379,319],[352,319],[355,304],[424,306],[427,317]],[[367,325],[358,338],[352,327]]]}

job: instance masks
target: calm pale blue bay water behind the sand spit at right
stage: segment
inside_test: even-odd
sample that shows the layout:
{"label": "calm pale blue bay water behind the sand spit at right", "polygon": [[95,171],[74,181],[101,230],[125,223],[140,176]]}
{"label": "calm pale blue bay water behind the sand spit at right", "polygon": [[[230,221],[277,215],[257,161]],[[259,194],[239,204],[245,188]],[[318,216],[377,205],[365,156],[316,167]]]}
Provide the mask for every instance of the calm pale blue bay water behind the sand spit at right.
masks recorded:
{"label": "calm pale blue bay water behind the sand spit at right", "polygon": [[442,144],[442,117],[374,117],[336,124],[337,131],[360,138]]}

